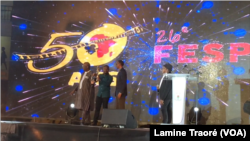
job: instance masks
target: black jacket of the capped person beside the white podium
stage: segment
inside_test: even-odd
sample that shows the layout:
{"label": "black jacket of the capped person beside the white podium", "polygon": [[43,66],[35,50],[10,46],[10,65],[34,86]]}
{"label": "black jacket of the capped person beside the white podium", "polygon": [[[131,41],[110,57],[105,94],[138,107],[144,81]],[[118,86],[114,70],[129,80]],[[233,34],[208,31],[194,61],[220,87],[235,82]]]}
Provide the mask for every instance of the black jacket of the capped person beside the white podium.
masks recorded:
{"label": "black jacket of the capped person beside the white podium", "polygon": [[158,92],[161,100],[172,100],[172,80],[165,77]]}

